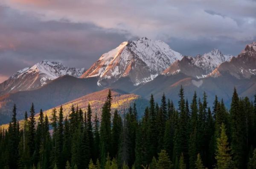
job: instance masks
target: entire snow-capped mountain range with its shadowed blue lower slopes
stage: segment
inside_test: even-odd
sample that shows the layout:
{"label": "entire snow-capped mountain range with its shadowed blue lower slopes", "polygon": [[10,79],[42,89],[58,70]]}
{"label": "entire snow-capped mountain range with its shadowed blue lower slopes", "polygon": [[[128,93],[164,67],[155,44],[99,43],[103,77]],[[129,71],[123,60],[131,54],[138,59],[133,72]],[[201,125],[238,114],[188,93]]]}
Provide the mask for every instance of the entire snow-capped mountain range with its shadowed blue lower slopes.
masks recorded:
{"label": "entire snow-capped mountain range with its shadowed blue lower slopes", "polygon": [[149,99],[152,93],[156,101],[165,93],[177,104],[181,85],[185,96],[206,92],[209,104],[217,95],[228,106],[234,87],[239,96],[252,99],[256,92],[256,42],[246,45],[238,56],[214,49],[192,57],[172,50],[163,41],[143,37],[122,42],[86,71],[43,61],[0,84],[0,124],[10,120],[14,103],[21,119],[32,102],[38,112],[39,108],[48,110],[69,101],[75,104],[77,101],[72,100],[106,88],[130,93],[131,98]]}

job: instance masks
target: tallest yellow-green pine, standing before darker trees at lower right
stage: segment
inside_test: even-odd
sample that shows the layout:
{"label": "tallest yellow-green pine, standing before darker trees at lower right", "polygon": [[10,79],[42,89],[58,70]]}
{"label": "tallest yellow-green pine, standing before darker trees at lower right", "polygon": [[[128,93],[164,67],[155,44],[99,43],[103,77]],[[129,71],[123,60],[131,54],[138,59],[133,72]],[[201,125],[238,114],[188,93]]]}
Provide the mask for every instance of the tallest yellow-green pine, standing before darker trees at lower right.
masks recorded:
{"label": "tallest yellow-green pine, standing before darker trees at lower right", "polygon": [[232,159],[230,155],[230,147],[228,146],[227,135],[225,125],[221,124],[221,135],[217,138],[217,150],[216,150],[216,160],[218,169],[230,169]]}

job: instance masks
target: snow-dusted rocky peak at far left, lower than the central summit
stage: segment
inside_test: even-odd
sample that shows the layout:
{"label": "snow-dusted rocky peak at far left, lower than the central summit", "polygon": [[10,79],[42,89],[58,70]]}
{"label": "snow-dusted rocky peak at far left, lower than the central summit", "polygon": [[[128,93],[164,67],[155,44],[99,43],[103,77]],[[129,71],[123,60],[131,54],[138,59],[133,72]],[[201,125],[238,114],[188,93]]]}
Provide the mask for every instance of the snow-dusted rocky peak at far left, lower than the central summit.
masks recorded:
{"label": "snow-dusted rocky peak at far left, lower than the central summit", "polygon": [[5,82],[0,84],[0,96],[24,90],[35,90],[58,77],[70,75],[79,77],[85,72],[84,68],[68,68],[59,62],[44,60],[32,66],[17,71]]}

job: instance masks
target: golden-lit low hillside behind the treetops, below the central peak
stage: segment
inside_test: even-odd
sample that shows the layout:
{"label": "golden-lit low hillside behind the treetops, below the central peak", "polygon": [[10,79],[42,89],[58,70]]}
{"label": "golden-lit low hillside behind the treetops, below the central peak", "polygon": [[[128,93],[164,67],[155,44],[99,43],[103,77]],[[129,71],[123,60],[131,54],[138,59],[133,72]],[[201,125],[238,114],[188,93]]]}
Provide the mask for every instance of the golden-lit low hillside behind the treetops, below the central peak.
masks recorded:
{"label": "golden-lit low hillside behind the treetops, below the central peak", "polygon": [[[90,103],[93,117],[95,113],[97,113],[98,117],[101,116],[101,108],[103,104],[105,103],[105,100],[108,95],[108,90],[101,90],[95,93],[90,93],[88,95],[82,96],[78,99],[75,99],[73,101],[69,101],[62,105],[64,117],[68,116],[71,113],[71,107],[74,105],[75,108],[81,108],[83,112],[87,111],[87,106]],[[146,105],[148,104],[148,101],[146,99],[143,99],[141,96],[130,94],[130,93],[124,93],[120,90],[111,89],[112,93],[112,113],[115,109],[118,110],[120,114],[123,114],[124,112],[128,111],[128,108],[130,105],[134,104],[134,102],[137,104],[137,112],[138,115],[141,116],[143,113],[143,110],[145,109]],[[58,111],[61,105],[55,107],[57,109],[57,115]],[[53,107],[54,108],[54,107]],[[52,109],[53,109],[52,108]],[[44,115],[47,115],[49,119],[52,117],[52,109],[44,111]],[[28,112],[29,115],[29,112]],[[38,119],[39,113],[35,115],[36,120]],[[7,128],[9,124],[3,124],[1,125],[2,128]],[[23,126],[23,120],[20,121],[20,126]]]}

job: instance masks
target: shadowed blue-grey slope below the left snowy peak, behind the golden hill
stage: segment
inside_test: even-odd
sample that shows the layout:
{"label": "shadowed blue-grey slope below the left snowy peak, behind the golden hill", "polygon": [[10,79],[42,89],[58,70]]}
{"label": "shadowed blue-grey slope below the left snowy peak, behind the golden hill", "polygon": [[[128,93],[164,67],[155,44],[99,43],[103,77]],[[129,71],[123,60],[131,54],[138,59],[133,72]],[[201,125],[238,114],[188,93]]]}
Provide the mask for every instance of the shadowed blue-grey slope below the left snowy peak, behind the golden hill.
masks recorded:
{"label": "shadowed blue-grey slope below the left snowy peak, behind the golden hill", "polygon": [[24,112],[29,112],[33,102],[35,110],[47,110],[77,99],[86,94],[102,90],[96,85],[96,78],[80,79],[73,76],[61,76],[47,85],[30,91],[20,91],[0,96],[0,124],[8,122],[12,116],[12,107],[17,106],[17,118],[23,118]]}

